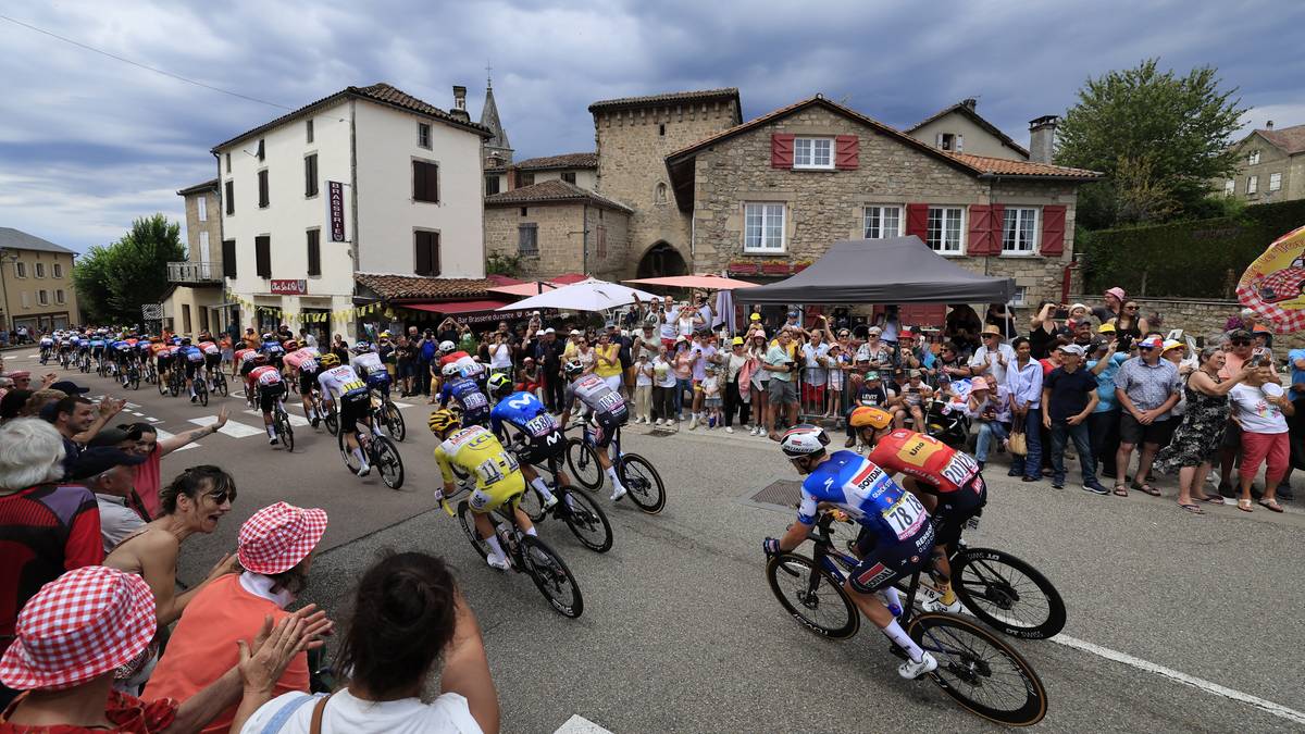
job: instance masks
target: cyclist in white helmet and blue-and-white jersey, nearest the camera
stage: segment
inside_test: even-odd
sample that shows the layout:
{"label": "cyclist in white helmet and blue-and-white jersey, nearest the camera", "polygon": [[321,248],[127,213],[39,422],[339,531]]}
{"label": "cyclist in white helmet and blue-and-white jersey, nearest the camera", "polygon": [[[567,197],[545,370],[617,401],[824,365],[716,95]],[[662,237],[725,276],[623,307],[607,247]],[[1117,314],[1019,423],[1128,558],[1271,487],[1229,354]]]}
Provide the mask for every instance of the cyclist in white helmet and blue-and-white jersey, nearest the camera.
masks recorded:
{"label": "cyclist in white helmet and blue-and-white jersey, nearest the camera", "polygon": [[937,669],[938,661],[898,624],[902,602],[893,582],[928,564],[933,550],[929,513],[887,471],[852,451],[829,453],[827,445],[825,431],[809,423],[793,426],[780,436],[780,451],[806,479],[797,522],[788,526],[783,538],[766,538],[762,547],[770,556],[800,546],[816,525],[822,503],[856,520],[861,525],[856,538],[861,563],[848,575],[844,589],[861,613],[906,650],[910,660],[898,666],[898,675],[919,678]]}

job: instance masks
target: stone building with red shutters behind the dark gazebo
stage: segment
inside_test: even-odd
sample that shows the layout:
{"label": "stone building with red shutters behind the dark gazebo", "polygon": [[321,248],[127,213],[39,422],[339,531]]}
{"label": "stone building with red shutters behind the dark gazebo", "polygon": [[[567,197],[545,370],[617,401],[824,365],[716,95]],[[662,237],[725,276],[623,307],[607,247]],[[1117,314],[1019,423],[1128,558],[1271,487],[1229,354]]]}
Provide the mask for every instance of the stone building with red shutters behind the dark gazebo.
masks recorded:
{"label": "stone building with red shutters behind the dark gazebo", "polygon": [[839,239],[917,235],[967,269],[1015,278],[1024,303],[1060,298],[1077,187],[1099,176],[941,150],[821,95],[673,152],[666,167],[694,270],[787,277]]}

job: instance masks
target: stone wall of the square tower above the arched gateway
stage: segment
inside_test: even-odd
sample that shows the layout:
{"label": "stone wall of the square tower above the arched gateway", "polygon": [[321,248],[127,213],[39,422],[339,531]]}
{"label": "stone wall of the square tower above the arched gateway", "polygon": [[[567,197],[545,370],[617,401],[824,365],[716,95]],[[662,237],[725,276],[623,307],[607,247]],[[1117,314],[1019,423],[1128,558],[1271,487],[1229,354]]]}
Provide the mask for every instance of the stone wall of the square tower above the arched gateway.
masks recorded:
{"label": "stone wall of the square tower above the arched gateway", "polygon": [[693,263],[689,215],[675,204],[666,157],[733,127],[739,114],[732,101],[594,114],[596,191],[634,209],[629,223],[630,249],[624,263],[628,277],[634,277],[639,259],[658,242],[673,246],[685,263]]}

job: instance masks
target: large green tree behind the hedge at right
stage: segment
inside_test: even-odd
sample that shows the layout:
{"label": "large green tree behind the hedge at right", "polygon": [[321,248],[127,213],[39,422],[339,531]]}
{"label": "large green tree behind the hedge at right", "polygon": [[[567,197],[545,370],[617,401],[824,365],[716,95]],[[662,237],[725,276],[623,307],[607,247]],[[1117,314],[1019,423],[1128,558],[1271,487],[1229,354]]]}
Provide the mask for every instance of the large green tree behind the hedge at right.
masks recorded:
{"label": "large green tree behind the hedge at right", "polygon": [[1236,167],[1237,89],[1220,90],[1214,67],[1180,77],[1158,61],[1088,78],[1060,125],[1056,162],[1108,176],[1081,189],[1090,229],[1184,218]]}

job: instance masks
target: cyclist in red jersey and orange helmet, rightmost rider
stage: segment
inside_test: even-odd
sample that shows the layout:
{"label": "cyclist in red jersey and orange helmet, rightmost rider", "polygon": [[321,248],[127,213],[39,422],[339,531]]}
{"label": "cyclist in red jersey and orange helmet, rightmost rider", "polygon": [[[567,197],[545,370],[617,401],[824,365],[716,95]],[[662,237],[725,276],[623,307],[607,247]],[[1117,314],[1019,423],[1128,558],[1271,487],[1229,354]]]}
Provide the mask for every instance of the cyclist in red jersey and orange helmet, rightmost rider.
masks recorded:
{"label": "cyclist in red jersey and orange helmet, rightmost rider", "polygon": [[910,431],[893,430],[893,417],[878,407],[857,407],[848,417],[868,447],[869,458],[878,468],[906,474],[902,485],[916,495],[933,517],[934,573],[940,601],[925,601],[925,611],[960,611],[960,601],[951,590],[951,566],[947,555],[960,539],[966,521],[988,504],[988,487],[979,470],[979,461],[938,439]]}

